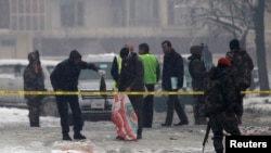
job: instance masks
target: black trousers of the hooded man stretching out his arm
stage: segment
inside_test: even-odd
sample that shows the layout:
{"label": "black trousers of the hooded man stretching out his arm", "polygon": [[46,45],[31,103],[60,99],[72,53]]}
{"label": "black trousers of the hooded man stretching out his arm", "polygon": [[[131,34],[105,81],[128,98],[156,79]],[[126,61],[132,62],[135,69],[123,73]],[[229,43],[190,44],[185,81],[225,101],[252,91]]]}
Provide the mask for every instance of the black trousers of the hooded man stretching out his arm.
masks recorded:
{"label": "black trousers of the hooded man stretching out his arm", "polygon": [[81,109],[78,102],[78,95],[56,95],[57,109],[61,117],[62,133],[69,132],[68,123],[68,105],[73,114],[74,131],[82,130],[83,120],[81,117]]}

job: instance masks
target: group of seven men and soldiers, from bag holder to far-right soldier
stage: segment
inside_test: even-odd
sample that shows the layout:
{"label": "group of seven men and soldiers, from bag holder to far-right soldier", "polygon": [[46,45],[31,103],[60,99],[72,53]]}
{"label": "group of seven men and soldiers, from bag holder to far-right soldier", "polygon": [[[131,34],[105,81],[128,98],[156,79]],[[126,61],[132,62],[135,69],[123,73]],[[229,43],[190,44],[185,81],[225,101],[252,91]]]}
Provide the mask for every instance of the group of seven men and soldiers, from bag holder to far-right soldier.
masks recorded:
{"label": "group of seven men and soldiers, from bag holder to far-right soldier", "polygon": [[[131,48],[132,47],[132,48]],[[231,135],[240,136],[238,125],[242,124],[243,98],[241,93],[250,86],[251,71],[254,68],[253,60],[249,54],[240,47],[240,41],[233,39],[229,42],[230,51],[224,58],[218,60],[217,66],[206,67],[203,60],[203,46],[192,46],[189,56],[189,72],[192,77],[193,91],[205,91],[207,87],[212,87],[217,80],[220,81],[221,99],[216,99],[222,104],[221,109],[212,110],[206,106],[210,95],[207,93],[195,94],[193,101],[194,124],[209,124],[214,132],[214,146],[217,153],[223,152],[223,130]],[[131,50],[132,49],[132,50]],[[165,40],[162,42],[164,51],[162,87],[165,91],[178,91],[183,87],[183,59],[181,54],[175,51],[171,42]],[[113,64],[112,75],[117,82],[119,91],[144,91],[144,86],[149,91],[154,91],[154,86],[159,80],[159,63],[154,55],[150,53],[146,43],[139,46],[139,54],[133,52],[133,46],[128,43],[120,50],[120,60],[114,60],[121,64]],[[121,61],[122,60],[122,61]],[[119,68],[121,68],[119,71]],[[114,72],[115,75],[114,76]],[[117,78],[117,79],[116,79]],[[211,93],[214,94],[214,93]],[[139,130],[138,138],[142,138],[142,128],[152,127],[153,120],[153,94],[143,98],[143,94],[129,95],[136,114],[138,115]],[[214,105],[215,107],[215,105]],[[210,111],[211,110],[211,111]],[[167,100],[167,113],[163,127],[172,125],[173,113],[177,113],[180,122],[175,126],[188,125],[188,116],[179,101],[178,94],[169,94]]]}

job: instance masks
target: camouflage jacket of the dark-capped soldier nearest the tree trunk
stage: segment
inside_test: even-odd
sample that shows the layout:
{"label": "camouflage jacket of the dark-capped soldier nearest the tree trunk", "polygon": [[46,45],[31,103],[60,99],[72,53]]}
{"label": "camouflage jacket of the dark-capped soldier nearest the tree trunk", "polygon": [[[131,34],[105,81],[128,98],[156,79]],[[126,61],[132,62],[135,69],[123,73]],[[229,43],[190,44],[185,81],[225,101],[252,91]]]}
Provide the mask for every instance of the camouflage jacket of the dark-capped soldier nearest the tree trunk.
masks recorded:
{"label": "camouflage jacket of the dark-capped soldier nearest the tree trunk", "polygon": [[243,50],[232,50],[227,52],[225,58],[230,60],[232,64],[232,74],[241,90],[246,90],[250,87],[251,71],[254,69],[254,63],[249,54]]}

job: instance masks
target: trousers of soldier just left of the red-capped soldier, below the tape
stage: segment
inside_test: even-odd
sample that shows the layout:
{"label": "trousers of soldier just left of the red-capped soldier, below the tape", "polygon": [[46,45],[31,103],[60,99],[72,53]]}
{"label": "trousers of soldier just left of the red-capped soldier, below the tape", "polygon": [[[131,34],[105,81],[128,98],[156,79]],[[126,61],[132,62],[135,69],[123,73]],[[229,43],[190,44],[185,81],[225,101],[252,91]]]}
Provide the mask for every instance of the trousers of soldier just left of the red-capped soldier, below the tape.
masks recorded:
{"label": "trousers of soldier just left of the red-capped soldier, below the tape", "polygon": [[194,124],[206,125],[204,95],[194,95],[193,99]]}

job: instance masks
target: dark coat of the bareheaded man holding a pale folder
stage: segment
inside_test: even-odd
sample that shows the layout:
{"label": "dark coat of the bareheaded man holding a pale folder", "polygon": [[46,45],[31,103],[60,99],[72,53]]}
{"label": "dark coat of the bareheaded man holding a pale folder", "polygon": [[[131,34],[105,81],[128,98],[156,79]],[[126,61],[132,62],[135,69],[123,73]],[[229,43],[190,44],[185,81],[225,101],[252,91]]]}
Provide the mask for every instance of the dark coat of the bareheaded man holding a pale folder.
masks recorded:
{"label": "dark coat of the bareheaded man holding a pale folder", "polygon": [[172,90],[170,77],[177,77],[177,88],[181,89],[183,85],[183,59],[173,49],[164,55],[162,73],[162,86],[164,90]]}

